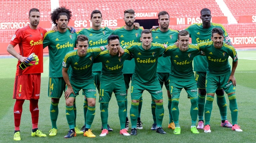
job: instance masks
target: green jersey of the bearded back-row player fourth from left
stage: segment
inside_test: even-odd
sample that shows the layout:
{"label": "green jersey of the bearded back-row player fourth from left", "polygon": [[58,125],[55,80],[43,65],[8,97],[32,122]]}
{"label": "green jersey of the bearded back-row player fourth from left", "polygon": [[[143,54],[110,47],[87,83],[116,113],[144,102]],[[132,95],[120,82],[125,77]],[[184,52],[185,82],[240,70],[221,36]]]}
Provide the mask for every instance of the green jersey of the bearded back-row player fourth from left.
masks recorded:
{"label": "green jersey of the bearded back-row player fourth from left", "polygon": [[[143,27],[139,29],[126,30],[123,27],[117,28],[114,30],[113,35],[118,35],[120,40],[120,45],[122,47],[129,46],[134,43],[140,43],[140,33],[143,30]],[[135,61],[134,59],[124,62],[123,74],[131,74],[134,71]]]}

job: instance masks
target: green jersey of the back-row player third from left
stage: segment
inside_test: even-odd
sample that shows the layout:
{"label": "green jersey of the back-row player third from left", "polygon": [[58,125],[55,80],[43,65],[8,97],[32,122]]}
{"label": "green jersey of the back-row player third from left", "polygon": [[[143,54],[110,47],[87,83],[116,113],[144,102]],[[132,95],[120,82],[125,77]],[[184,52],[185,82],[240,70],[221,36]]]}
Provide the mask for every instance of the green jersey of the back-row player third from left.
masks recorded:
{"label": "green jersey of the back-row player third from left", "polygon": [[[89,38],[89,47],[100,47],[107,45],[107,38],[113,33],[114,30],[108,27],[100,28],[99,30],[94,30],[93,28],[84,28],[77,32],[78,35],[86,35]],[[101,63],[93,64],[92,71],[101,71]]]}

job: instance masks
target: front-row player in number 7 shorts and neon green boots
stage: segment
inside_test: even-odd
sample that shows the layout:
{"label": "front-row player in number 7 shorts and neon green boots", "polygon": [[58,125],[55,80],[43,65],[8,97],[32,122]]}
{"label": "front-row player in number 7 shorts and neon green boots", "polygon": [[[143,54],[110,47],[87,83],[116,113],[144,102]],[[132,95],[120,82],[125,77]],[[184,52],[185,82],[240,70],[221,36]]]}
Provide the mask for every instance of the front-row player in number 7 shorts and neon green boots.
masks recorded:
{"label": "front-row player in number 7 shorts and neon green boots", "polygon": [[195,45],[189,45],[189,32],[181,30],[178,34],[179,47],[176,45],[168,46],[163,56],[170,56],[170,94],[171,94],[171,115],[175,124],[173,134],[181,134],[179,124],[179,98],[182,88],[186,90],[190,97],[191,107],[191,128],[194,134],[199,134],[196,129],[196,119],[198,114],[197,105],[197,87],[193,72],[192,61],[195,56],[200,54],[199,48]]}

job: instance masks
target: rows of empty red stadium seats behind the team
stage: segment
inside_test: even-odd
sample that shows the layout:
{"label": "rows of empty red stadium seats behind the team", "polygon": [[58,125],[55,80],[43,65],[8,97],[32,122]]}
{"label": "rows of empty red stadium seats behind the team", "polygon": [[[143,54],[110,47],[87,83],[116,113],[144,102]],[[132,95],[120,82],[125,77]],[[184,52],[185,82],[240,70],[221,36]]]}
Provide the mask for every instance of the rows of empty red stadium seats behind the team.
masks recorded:
{"label": "rows of empty red stadium seats behind the team", "polygon": [[[223,0],[238,24],[223,24],[230,37],[255,36],[256,23],[253,21],[239,23],[241,16],[256,17],[255,0]],[[31,8],[40,10],[40,21],[49,22],[51,13],[50,0],[1,0],[0,5],[0,35],[1,43],[9,43],[16,29],[5,28],[6,22],[28,22],[28,11]],[[209,8],[213,17],[224,16],[219,5],[214,0],[191,0],[187,3],[180,0],[59,0],[60,6],[66,6],[72,11],[71,20],[89,20],[93,10],[102,12],[104,19],[123,19],[123,11],[132,8],[135,12],[158,12],[166,10],[170,18],[200,17],[202,8]],[[136,19],[139,19],[136,18]],[[51,22],[49,22],[51,23]],[[49,24],[50,25],[50,24]],[[188,25],[170,25],[172,29],[181,30]],[[48,29],[51,27],[49,26]],[[115,28],[115,27],[110,27]],[[78,28],[78,30],[81,28]],[[255,44],[256,45],[256,44]],[[1,53],[0,53],[1,54]]]}

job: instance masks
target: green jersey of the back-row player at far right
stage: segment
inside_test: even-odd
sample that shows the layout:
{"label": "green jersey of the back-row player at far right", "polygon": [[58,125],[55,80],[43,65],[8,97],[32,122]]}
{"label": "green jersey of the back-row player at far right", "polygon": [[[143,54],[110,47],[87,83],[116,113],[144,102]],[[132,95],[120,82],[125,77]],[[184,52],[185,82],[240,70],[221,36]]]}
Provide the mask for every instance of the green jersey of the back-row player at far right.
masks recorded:
{"label": "green jersey of the back-row player at far right", "polygon": [[[211,27],[203,28],[202,23],[194,23],[185,30],[189,31],[189,37],[192,40],[192,44],[197,44],[201,42],[211,41],[212,29],[218,27],[224,32],[224,40],[230,42],[227,31],[222,24],[212,23]],[[194,71],[206,72],[207,61],[205,56],[197,56],[194,58]]]}

